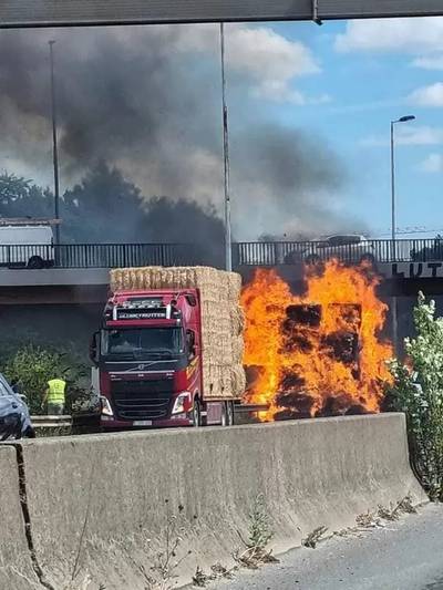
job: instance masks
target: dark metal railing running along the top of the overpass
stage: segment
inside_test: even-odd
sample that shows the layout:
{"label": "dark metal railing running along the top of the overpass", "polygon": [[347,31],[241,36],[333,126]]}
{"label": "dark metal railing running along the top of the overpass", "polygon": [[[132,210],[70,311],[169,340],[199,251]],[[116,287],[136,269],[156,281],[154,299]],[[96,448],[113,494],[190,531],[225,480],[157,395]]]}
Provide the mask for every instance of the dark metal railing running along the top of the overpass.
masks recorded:
{"label": "dark metal railing running along the top of the overpass", "polygon": [[[220,245],[220,251],[223,245]],[[223,260],[222,257],[219,257]],[[277,266],[329,260],[359,262],[443,261],[443,239],[336,241],[249,241],[233,245],[234,267]],[[195,244],[0,245],[7,268],[122,268],[142,266],[214,266],[206,246]]]}

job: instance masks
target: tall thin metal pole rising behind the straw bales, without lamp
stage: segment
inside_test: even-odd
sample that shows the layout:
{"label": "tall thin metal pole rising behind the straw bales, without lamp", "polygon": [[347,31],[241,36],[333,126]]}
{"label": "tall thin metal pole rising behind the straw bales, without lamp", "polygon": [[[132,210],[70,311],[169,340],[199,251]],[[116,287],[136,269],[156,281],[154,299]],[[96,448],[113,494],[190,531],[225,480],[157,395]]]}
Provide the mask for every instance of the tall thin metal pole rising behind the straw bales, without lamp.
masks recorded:
{"label": "tall thin metal pole rising behind the straw bales, without lamp", "polygon": [[229,132],[228,107],[226,104],[226,76],[225,76],[225,27],[220,22],[222,49],[222,102],[223,102],[223,156],[225,175],[225,256],[226,270],[233,270],[233,239],[230,229],[230,194],[229,194]]}

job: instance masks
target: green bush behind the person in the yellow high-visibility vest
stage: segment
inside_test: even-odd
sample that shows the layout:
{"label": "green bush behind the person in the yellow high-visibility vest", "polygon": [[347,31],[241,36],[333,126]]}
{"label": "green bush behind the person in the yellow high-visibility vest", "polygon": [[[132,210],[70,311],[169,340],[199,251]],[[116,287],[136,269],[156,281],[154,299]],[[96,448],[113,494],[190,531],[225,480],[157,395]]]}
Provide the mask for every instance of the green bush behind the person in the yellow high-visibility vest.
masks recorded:
{"label": "green bush behind the person in the yellow high-visibility vest", "polygon": [[1,371],[27,396],[31,414],[45,413],[42,401],[50,379],[66,381],[68,413],[91,398],[91,392],[85,386],[87,366],[76,363],[65,353],[25,344],[8,354]]}

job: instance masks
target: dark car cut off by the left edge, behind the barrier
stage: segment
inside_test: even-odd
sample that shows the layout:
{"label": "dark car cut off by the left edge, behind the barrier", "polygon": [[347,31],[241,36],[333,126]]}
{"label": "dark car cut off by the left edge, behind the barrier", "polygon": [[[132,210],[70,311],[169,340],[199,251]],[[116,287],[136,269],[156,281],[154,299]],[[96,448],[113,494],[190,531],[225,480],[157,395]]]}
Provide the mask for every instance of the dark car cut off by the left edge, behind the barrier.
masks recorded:
{"label": "dark car cut off by the left edge, behind the barrier", "polygon": [[0,441],[22,436],[35,436],[25,396],[14,391],[0,373]]}

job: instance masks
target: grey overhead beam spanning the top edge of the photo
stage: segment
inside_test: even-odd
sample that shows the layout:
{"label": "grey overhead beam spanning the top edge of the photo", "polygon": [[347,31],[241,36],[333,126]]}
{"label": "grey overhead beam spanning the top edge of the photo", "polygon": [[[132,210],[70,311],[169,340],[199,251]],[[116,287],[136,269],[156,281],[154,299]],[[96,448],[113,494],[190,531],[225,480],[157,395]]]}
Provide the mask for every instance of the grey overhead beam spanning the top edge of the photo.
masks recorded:
{"label": "grey overhead beam spanning the top edge of the photo", "polygon": [[2,0],[0,28],[424,17],[441,0]]}

